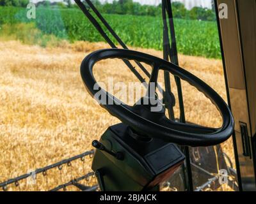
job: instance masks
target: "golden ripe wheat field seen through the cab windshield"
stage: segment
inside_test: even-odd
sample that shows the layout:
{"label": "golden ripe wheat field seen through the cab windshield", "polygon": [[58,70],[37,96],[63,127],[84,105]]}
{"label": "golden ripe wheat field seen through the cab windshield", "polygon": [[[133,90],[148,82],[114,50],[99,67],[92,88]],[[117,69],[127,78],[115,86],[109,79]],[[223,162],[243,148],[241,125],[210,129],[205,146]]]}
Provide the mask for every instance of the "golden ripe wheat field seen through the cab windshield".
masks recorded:
{"label": "golden ripe wheat field seen through the cab windshield", "polygon": [[[93,101],[81,80],[81,61],[100,48],[108,45],[81,41],[42,48],[19,41],[0,41],[0,182],[92,149],[92,140],[119,122]],[[160,51],[134,49],[162,56]],[[227,101],[220,60],[179,55],[179,61],[180,66],[202,78]],[[117,82],[138,82],[118,59],[100,61],[95,75],[101,82],[109,76]],[[173,78],[172,87],[177,95]],[[182,87],[186,119],[220,127],[220,114],[211,101],[186,82],[182,82]],[[175,114],[179,114],[177,105]],[[234,161],[231,139],[222,147]],[[77,163],[77,175],[89,171],[90,165],[90,159],[83,165]],[[49,174],[50,187],[70,180],[60,179],[58,170]],[[28,188],[22,185],[20,190]],[[50,188],[40,185],[32,190]]]}

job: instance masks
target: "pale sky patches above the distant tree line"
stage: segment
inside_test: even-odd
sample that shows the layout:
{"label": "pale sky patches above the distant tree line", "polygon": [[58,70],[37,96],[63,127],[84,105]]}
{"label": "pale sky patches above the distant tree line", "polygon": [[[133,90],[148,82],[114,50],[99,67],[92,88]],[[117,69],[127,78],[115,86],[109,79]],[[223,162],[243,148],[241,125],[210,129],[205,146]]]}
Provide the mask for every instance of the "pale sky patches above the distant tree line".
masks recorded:
{"label": "pale sky patches above the distant tree line", "polygon": [[[36,3],[42,0],[31,0],[31,2]],[[52,2],[63,1],[63,0],[50,0]],[[101,2],[112,2],[113,0],[100,0]],[[161,3],[161,0],[133,0],[134,2],[139,2],[141,4],[150,4],[150,5],[157,5]],[[172,1],[180,1],[184,3],[186,8],[191,9],[194,6],[202,6],[204,8],[211,8],[211,0],[172,0]]]}

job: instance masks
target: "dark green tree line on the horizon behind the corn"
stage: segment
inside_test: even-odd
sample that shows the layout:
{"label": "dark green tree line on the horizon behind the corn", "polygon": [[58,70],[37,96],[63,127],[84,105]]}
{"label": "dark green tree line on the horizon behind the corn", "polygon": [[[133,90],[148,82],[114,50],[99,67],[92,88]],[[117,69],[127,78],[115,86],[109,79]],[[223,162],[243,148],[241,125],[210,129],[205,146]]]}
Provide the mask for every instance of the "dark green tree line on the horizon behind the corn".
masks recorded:
{"label": "dark green tree line on the horizon behind the corn", "polygon": [[[75,8],[76,4],[72,4],[71,0],[63,0],[66,4],[58,2],[59,8]],[[93,5],[101,13],[108,14],[129,14],[129,15],[150,15],[153,17],[161,15],[161,4],[159,6],[141,5],[132,0],[114,0],[113,3],[100,3],[99,0],[91,0]],[[0,6],[21,6],[26,7],[29,0],[0,0]],[[86,1],[84,1],[86,4]],[[40,2],[40,6],[51,6],[49,0]],[[184,4],[179,2],[172,3],[173,17],[193,20],[215,20],[215,13],[213,10],[195,7],[192,10],[187,10]]]}

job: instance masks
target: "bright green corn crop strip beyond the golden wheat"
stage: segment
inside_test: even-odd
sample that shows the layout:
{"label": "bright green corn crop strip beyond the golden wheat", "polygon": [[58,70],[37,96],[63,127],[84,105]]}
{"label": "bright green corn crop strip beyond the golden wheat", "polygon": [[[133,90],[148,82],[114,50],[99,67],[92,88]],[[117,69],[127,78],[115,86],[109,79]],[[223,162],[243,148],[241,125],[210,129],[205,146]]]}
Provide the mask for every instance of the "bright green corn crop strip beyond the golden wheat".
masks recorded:
{"label": "bright green corn crop strip beyond the golden wheat", "polygon": [[[162,49],[163,22],[160,15],[104,14],[104,17],[127,45]],[[69,41],[104,41],[90,21],[76,8],[37,8],[36,19],[29,20],[26,18],[26,9],[0,7],[0,25],[18,22],[34,22],[42,33],[54,34]],[[175,18],[174,23],[180,54],[221,57],[216,22]],[[112,37],[111,39],[115,41]]]}

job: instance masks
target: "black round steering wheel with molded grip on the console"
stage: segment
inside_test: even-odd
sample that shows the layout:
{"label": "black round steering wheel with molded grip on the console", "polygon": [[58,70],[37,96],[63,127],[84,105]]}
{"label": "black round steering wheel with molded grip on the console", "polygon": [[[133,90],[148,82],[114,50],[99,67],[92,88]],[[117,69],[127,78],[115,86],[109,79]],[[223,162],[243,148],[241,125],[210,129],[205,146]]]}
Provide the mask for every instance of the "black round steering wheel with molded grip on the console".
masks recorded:
{"label": "black round steering wheel with molded grip on the console", "polygon": [[[161,111],[152,112],[148,108],[148,105],[129,106],[122,103],[115,96],[102,89],[93,77],[93,66],[96,62],[113,58],[140,61],[149,64],[152,66],[150,82],[157,83],[157,75],[161,69],[193,85],[198,91],[203,92],[207,98],[211,99],[212,103],[220,111],[223,119],[221,128],[207,128],[194,124],[175,122],[165,116],[164,108]],[[84,58],[81,64],[81,77],[91,96],[94,97],[100,91],[101,98],[108,99],[108,103],[101,103],[100,106],[143,135],[152,138],[161,138],[166,142],[195,147],[222,143],[234,131],[234,119],[230,109],[225,101],[209,85],[179,66],[158,57],[118,48],[98,50]],[[95,89],[95,87],[98,87],[98,89]],[[153,91],[156,91],[156,86]]]}

